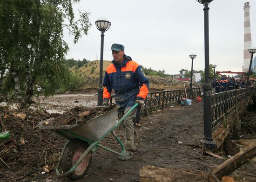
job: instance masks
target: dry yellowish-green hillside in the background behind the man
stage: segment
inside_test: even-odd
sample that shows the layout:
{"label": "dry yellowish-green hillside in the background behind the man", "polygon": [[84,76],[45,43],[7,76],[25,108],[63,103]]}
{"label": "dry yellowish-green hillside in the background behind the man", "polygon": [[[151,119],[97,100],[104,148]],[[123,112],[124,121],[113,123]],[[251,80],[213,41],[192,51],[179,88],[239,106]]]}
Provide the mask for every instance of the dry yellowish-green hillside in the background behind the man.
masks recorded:
{"label": "dry yellowish-green hillside in the background behind the man", "polygon": [[[103,77],[108,65],[111,61],[103,61]],[[73,73],[79,74],[82,77],[82,89],[97,88],[99,85],[99,75],[100,75],[100,60],[90,61],[80,68],[73,66],[70,68]],[[182,89],[183,83],[175,78],[166,77],[162,78],[160,76],[147,76],[150,81],[150,90],[164,90],[164,89]],[[186,84],[187,86],[188,84]]]}

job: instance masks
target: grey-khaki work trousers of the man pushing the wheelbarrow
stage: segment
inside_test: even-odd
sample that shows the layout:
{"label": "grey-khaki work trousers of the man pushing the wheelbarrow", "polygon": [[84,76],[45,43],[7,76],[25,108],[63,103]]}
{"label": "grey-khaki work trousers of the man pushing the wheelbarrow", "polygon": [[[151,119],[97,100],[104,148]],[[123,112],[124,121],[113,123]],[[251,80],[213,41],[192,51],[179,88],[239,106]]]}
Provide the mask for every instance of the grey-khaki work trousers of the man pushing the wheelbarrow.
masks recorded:
{"label": "grey-khaki work trousers of the man pushing the wheelbarrow", "polygon": [[[126,108],[124,111],[118,111],[118,115],[119,117],[123,117],[128,110],[130,110],[131,107]],[[124,146],[126,150],[132,151],[134,152],[136,150],[136,145],[138,144],[138,139],[139,136],[137,135],[137,133],[134,130],[134,122],[133,120],[136,117],[136,112],[137,112],[137,108],[135,110],[133,110],[128,117],[125,118],[125,120],[123,121],[123,127],[125,130],[125,134],[126,134],[126,139],[124,142]]]}

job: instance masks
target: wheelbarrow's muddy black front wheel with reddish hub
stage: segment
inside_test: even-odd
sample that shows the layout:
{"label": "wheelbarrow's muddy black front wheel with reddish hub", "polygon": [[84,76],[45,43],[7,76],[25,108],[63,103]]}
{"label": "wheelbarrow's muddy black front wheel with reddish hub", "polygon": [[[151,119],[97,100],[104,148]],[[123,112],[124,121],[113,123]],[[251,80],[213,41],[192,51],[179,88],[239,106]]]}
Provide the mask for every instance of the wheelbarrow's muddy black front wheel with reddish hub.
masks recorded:
{"label": "wheelbarrow's muddy black front wheel with reddish hub", "polygon": [[[80,158],[80,156],[84,153],[84,151],[88,148],[88,143],[75,140],[70,141],[67,144],[66,150],[63,152],[60,168],[63,172],[67,172],[69,169],[74,166],[76,161]],[[77,180],[85,176],[87,171],[89,170],[92,163],[92,151],[90,151],[81,161],[81,163],[74,169],[74,171],[69,174],[67,177],[71,180]]]}

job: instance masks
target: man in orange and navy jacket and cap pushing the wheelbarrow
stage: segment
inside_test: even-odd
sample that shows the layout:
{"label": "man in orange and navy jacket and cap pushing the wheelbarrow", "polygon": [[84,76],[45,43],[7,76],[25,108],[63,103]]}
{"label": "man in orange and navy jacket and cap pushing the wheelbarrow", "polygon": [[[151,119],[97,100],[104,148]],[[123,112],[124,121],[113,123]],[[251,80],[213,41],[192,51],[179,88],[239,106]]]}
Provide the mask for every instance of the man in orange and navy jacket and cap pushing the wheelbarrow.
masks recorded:
{"label": "man in orange and navy jacket and cap pushing the wheelbarrow", "polygon": [[[138,103],[143,104],[143,99],[147,97],[149,81],[138,65],[131,57],[124,54],[124,46],[113,44],[111,46],[114,60],[105,72],[103,81],[103,105],[108,105],[112,89],[115,90],[115,103],[120,106],[118,114],[124,116],[131,107]],[[133,157],[133,152],[137,150],[138,136],[134,130],[133,120],[137,109],[133,110],[124,120],[123,126],[126,132],[126,152],[119,156],[119,160],[126,161]]]}

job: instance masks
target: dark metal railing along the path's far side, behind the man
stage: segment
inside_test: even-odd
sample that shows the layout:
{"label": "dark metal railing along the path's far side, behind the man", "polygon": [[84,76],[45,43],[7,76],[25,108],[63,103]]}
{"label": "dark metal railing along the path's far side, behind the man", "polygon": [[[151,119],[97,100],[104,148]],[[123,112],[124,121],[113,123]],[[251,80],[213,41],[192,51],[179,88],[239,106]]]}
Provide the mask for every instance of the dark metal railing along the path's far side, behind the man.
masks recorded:
{"label": "dark metal railing along the path's far side, behind the man", "polygon": [[[186,89],[189,99],[195,97],[202,97],[203,90],[201,87]],[[144,99],[144,104],[148,112],[163,110],[166,107],[180,104],[182,98],[186,98],[185,89],[180,90],[165,90],[165,91],[153,91],[148,92],[147,97]],[[115,101],[115,95],[111,95],[110,103]],[[144,107],[141,108],[141,114],[146,114]]]}

